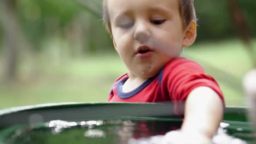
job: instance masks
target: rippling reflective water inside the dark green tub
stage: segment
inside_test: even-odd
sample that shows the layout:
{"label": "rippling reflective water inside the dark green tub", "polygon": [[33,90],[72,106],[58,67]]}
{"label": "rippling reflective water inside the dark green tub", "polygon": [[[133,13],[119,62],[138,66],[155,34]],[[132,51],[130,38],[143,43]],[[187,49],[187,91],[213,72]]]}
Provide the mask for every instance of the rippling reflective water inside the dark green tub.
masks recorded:
{"label": "rippling reflective water inside the dark green tub", "polygon": [[[178,130],[181,121],[51,121],[15,130],[5,143],[159,143],[162,135]],[[213,143],[254,143],[249,125],[222,123]]]}

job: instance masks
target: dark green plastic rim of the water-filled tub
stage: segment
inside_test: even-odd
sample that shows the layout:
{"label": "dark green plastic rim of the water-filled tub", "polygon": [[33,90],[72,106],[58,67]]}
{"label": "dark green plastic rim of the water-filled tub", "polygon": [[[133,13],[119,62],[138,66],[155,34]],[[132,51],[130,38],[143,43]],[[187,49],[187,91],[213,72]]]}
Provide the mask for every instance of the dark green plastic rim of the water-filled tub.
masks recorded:
{"label": "dark green plastic rim of the water-filled tub", "polygon": [[[223,122],[249,125],[247,109],[225,107]],[[13,107],[0,110],[0,144],[16,129],[30,125],[28,117],[33,114],[44,118],[41,123],[57,119],[69,122],[115,119],[182,122],[173,112],[172,103],[58,103]],[[251,131],[250,128],[245,130]]]}

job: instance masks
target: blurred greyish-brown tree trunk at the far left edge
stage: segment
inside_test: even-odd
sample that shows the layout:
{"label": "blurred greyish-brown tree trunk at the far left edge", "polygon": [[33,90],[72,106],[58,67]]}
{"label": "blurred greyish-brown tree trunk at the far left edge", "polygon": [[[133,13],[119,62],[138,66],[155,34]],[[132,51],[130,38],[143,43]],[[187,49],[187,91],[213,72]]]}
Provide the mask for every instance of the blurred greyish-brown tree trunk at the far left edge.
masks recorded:
{"label": "blurred greyish-brown tree trunk at the far left edge", "polygon": [[18,74],[19,36],[20,27],[17,16],[16,0],[2,0],[0,2],[0,15],[4,31],[6,47],[5,81],[14,81]]}

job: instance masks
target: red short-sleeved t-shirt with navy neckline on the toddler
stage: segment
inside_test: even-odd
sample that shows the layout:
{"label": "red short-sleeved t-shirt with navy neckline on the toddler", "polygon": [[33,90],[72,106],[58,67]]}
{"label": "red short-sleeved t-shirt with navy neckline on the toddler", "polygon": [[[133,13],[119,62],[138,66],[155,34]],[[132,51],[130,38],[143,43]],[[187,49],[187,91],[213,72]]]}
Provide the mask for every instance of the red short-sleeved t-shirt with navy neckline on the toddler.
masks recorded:
{"label": "red short-sleeved t-shirt with navy neckline on the toddler", "polygon": [[[184,110],[185,99],[196,87],[207,86],[216,91],[223,100],[223,93],[216,80],[196,62],[178,57],[168,62],[160,73],[129,93],[123,92],[123,84],[129,78],[127,74],[120,76],[109,94],[109,102],[156,103],[172,101],[174,110],[180,114]],[[181,105],[179,105],[181,104]]]}

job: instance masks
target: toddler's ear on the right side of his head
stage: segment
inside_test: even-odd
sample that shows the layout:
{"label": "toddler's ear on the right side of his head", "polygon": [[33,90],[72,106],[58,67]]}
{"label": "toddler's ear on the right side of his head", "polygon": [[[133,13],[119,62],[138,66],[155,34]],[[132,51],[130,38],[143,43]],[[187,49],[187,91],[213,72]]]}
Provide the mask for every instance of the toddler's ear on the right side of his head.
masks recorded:
{"label": "toddler's ear on the right side of his head", "polygon": [[195,42],[196,39],[196,22],[193,20],[189,23],[184,31],[183,47],[188,47]]}

